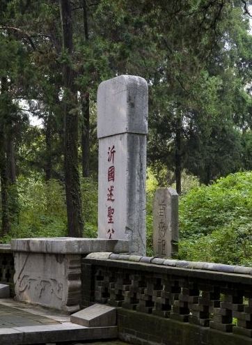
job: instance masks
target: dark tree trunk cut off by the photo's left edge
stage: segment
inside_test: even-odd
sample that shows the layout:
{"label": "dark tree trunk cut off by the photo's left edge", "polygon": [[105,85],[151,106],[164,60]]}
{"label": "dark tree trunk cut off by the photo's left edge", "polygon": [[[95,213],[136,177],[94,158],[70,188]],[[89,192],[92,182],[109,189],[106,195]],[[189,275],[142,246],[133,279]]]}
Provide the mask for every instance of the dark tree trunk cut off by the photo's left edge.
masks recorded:
{"label": "dark tree trunk cut off by the photo's left edge", "polygon": [[[1,95],[8,92],[6,77],[1,78]],[[10,231],[10,213],[8,206],[8,167],[6,158],[6,126],[5,118],[0,118],[0,181],[1,181],[1,233],[6,235]]]}

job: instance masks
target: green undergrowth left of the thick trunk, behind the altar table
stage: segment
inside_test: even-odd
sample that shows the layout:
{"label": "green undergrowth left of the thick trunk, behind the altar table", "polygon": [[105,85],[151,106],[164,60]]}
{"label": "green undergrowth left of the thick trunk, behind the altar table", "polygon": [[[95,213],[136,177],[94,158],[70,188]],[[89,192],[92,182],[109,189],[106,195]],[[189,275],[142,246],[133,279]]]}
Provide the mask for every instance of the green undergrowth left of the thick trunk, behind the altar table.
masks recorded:
{"label": "green undergrowth left of the thick trunk, behind the altar table", "polygon": [[65,194],[63,185],[52,180],[45,183],[40,176],[20,176],[17,181],[19,194],[19,220],[12,224],[10,233],[2,238],[66,236]]}

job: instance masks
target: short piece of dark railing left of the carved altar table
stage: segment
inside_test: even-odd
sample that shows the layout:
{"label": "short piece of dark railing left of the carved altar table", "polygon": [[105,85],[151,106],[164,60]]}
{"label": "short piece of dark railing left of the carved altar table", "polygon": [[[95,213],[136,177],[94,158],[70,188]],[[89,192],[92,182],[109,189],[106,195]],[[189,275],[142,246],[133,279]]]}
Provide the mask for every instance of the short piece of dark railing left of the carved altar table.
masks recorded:
{"label": "short piece of dark railing left of the carved altar table", "polygon": [[0,245],[0,283],[10,285],[10,294],[14,294],[13,276],[15,273],[13,252],[10,245]]}

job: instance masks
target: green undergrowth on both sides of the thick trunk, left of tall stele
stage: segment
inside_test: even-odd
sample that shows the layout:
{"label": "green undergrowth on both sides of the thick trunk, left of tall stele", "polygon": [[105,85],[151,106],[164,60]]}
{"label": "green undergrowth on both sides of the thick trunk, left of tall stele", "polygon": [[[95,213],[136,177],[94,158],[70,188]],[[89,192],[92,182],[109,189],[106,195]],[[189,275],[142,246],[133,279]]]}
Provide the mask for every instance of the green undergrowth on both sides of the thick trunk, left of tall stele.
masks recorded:
{"label": "green undergrowth on both sides of the thick trunk, left of tall stele", "polygon": [[[12,238],[67,236],[65,187],[61,182],[45,182],[39,174],[19,176],[17,192],[19,217],[13,220],[10,233],[1,238],[2,243],[9,243]],[[81,192],[84,236],[96,238],[97,182],[92,178],[82,179]]]}

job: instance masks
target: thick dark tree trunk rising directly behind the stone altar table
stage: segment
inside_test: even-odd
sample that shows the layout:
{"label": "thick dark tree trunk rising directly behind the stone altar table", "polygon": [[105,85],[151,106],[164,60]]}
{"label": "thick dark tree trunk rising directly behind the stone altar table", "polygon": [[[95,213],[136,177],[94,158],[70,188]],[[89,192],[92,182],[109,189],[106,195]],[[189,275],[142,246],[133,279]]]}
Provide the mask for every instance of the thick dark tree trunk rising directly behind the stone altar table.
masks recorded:
{"label": "thick dark tree trunk rising directly behind the stone altar table", "polygon": [[[63,50],[72,59],[72,18],[69,0],[60,0]],[[78,170],[78,112],[73,112],[74,84],[71,63],[63,64],[65,114],[65,192],[68,213],[68,236],[82,237],[83,220]]]}

